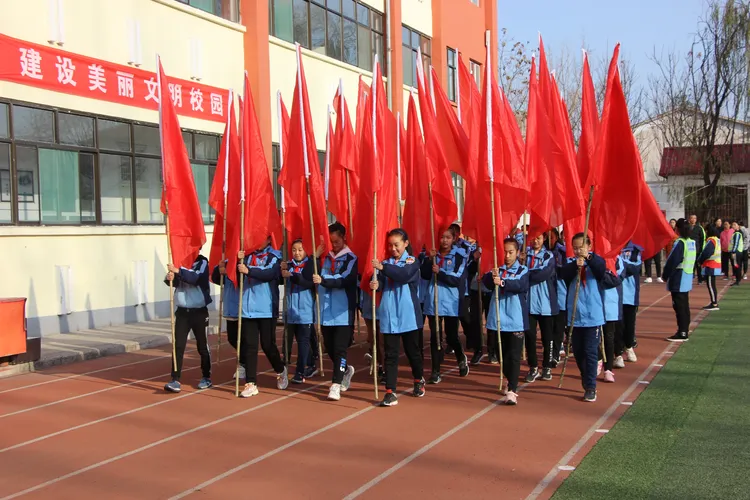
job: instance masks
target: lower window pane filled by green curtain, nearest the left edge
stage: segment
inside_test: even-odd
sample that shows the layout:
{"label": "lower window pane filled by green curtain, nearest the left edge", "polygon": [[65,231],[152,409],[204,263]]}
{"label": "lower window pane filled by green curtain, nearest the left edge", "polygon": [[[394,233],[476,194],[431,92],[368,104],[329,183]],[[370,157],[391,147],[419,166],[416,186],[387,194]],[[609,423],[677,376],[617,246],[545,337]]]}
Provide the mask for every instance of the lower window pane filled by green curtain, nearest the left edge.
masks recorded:
{"label": "lower window pane filled by green curtain, nearest the left edge", "polygon": [[43,224],[81,222],[78,153],[39,149]]}

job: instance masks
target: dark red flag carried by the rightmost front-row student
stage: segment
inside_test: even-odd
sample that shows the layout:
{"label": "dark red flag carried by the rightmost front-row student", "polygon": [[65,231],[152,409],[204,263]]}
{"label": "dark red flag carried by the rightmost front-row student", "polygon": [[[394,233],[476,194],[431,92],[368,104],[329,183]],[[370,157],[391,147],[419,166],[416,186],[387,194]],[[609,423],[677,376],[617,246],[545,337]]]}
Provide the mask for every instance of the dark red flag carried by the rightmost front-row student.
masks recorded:
{"label": "dark red flag carried by the rightmost front-row student", "polygon": [[630,128],[628,107],[617,69],[619,44],[607,76],[600,137],[591,173],[595,186],[591,220],[594,248],[604,258],[616,256],[639,224],[643,169]]}

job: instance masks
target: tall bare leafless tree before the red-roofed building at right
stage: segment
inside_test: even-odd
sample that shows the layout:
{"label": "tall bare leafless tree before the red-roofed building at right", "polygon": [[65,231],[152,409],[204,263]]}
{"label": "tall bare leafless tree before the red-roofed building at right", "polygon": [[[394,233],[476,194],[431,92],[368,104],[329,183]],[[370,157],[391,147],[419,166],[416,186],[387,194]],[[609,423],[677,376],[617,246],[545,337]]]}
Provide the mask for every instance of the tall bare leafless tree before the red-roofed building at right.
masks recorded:
{"label": "tall bare leafless tree before the red-roofed building at right", "polygon": [[710,0],[684,57],[654,51],[659,72],[649,82],[649,124],[655,144],[686,148],[680,150],[684,171],[672,173],[694,174],[697,164],[702,181],[700,196],[685,196],[675,183],[669,196],[687,198],[701,220],[715,215],[719,181],[731,173],[736,145],[747,140],[749,42],[750,2]]}

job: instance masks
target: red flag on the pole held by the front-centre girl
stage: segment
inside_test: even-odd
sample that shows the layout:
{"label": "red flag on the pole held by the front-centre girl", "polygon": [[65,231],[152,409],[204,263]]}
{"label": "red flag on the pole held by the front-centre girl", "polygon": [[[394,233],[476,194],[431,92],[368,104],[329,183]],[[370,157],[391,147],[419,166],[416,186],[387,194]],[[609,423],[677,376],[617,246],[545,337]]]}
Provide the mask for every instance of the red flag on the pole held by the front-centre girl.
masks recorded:
{"label": "red flag on the pole held by the front-centre girl", "polygon": [[[372,259],[385,258],[385,235],[398,225],[396,215],[395,163],[389,154],[388,141],[395,143],[395,135],[389,136],[388,108],[380,65],[375,61],[373,68],[373,86],[367,101],[363,120],[357,124],[362,133],[360,144],[360,192],[354,224],[357,238],[352,250],[359,258],[359,270],[362,273],[361,286],[369,291],[369,281],[373,274]],[[392,116],[392,115],[391,115]],[[361,124],[361,125],[360,125]],[[377,213],[374,212],[374,201],[377,197]],[[377,234],[373,216],[377,220]],[[373,245],[375,248],[373,248]]]}

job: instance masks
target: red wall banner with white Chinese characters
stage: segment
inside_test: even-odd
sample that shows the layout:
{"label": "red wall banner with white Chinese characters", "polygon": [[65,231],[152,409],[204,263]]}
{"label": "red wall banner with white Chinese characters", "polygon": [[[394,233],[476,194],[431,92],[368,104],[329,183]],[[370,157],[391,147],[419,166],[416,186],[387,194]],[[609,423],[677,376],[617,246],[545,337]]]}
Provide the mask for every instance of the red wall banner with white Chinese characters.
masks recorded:
{"label": "red wall banner with white Chinese characters", "polygon": [[[169,61],[165,61],[169,65]],[[168,66],[167,66],[168,67]],[[0,80],[139,108],[159,109],[156,73],[0,34]],[[224,122],[229,92],[170,78],[177,113]]]}

